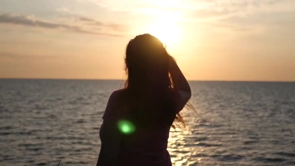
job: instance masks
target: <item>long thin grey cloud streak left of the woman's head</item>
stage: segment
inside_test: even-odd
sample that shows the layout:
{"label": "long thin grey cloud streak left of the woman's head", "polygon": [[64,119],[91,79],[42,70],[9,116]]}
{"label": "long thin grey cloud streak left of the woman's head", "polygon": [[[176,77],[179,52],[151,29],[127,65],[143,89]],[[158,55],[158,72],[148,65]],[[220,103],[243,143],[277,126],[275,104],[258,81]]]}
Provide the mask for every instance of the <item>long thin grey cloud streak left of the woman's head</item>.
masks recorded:
{"label": "long thin grey cloud streak left of the woman's head", "polygon": [[[87,18],[83,18],[83,19],[87,20]],[[88,18],[88,20],[90,20],[90,18]],[[33,16],[23,16],[23,15],[13,16],[13,15],[7,15],[7,14],[0,14],[0,23],[16,24],[16,25],[23,25],[23,26],[36,27],[36,28],[46,28],[46,29],[64,29],[66,31],[70,31],[74,33],[121,36],[119,34],[89,31],[89,30],[83,29],[81,26],[73,26],[73,25],[67,25],[63,23],[54,23],[54,22],[49,22],[45,20],[38,20],[38,19],[35,19]],[[98,21],[96,21],[96,23],[98,23]]]}

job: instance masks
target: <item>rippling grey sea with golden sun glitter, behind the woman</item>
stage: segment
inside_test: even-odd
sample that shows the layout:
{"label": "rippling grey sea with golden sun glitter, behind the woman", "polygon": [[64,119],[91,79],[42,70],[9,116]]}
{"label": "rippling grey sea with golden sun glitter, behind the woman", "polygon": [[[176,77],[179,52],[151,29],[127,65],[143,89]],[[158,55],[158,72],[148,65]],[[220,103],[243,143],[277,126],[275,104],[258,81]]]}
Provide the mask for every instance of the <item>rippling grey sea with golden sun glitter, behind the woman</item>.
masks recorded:
{"label": "rippling grey sea with golden sun glitter, behind the woman", "polygon": [[[106,102],[122,81],[0,80],[0,166],[95,166]],[[295,83],[190,82],[174,166],[295,166]]]}

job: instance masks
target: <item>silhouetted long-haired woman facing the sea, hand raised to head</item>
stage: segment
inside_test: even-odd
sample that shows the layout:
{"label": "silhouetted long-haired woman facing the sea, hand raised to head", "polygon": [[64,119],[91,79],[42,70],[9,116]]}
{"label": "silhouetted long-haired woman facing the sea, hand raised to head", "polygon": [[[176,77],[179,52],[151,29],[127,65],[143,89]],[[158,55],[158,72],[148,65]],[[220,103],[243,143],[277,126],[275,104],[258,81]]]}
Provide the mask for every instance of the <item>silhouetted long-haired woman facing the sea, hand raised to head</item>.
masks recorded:
{"label": "silhouetted long-haired woman facing the sea, hand raised to head", "polygon": [[159,39],[141,34],[126,48],[125,88],[112,93],[100,128],[97,166],[172,166],[169,130],[185,126],[191,97],[185,77]]}

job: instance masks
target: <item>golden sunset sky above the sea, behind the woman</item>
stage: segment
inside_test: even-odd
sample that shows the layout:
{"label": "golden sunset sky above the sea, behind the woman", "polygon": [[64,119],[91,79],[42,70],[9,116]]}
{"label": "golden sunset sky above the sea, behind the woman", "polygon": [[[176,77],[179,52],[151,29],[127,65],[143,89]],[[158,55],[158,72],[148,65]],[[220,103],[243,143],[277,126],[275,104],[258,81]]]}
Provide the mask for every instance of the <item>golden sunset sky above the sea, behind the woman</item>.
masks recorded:
{"label": "golden sunset sky above the sea, behind the woman", "polygon": [[141,33],[188,80],[295,81],[295,0],[0,0],[0,78],[124,79]]}

